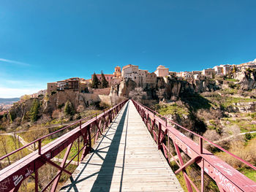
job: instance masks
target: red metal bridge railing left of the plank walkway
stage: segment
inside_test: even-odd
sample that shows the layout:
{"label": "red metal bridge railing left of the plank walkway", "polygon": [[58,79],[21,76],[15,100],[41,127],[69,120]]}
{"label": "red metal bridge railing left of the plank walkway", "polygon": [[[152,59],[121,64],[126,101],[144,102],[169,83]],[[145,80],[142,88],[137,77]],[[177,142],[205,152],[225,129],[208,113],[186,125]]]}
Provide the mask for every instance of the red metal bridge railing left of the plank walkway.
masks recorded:
{"label": "red metal bridge railing left of the plank walkway", "polygon": [[[120,104],[117,104],[115,107],[110,108],[109,110],[105,110],[100,115],[97,115],[94,118],[88,117],[81,120],[76,121],[75,123],[70,124],[64,128],[59,129],[58,131],[54,131],[51,134],[45,135],[39,139],[36,139],[34,142],[29,143],[23,147],[20,147],[18,150],[13,151],[7,155],[4,155],[0,158],[0,161],[8,158],[10,155],[18,153],[20,150],[28,148],[31,145],[37,144],[38,150],[26,155],[24,158],[16,161],[14,164],[7,166],[6,168],[0,171],[0,192],[5,191],[18,191],[23,180],[26,180],[31,174],[34,174],[35,181],[35,189],[34,191],[39,191],[39,174],[38,170],[45,164],[50,164],[51,166],[55,166],[59,171],[56,176],[50,180],[50,182],[41,188],[41,191],[46,191],[50,186],[50,191],[56,191],[57,185],[59,183],[62,172],[65,172],[69,175],[72,173],[67,170],[67,166],[78,157],[79,160],[82,161],[83,158],[89,153],[91,150],[91,145],[93,141],[97,141],[99,134],[105,131],[105,128],[109,126],[112,122],[113,118],[118,114],[124,104],[127,102],[122,101]],[[89,120],[89,118],[91,118]],[[87,121],[88,120],[88,121]],[[86,123],[84,123],[86,121]],[[60,133],[61,131],[67,130],[73,126],[78,126],[68,131],[63,136],[55,139],[53,142],[48,143],[45,146],[42,146],[42,140],[47,137],[52,137],[53,134]],[[91,135],[93,134],[93,135]],[[68,162],[68,156],[72,145],[78,142],[78,153],[76,153]],[[83,142],[82,147],[80,147],[80,142]],[[62,159],[61,165],[58,165],[51,161],[53,157],[61,153],[61,151],[66,150],[64,154],[64,158]],[[81,157],[79,155],[81,154]]]}

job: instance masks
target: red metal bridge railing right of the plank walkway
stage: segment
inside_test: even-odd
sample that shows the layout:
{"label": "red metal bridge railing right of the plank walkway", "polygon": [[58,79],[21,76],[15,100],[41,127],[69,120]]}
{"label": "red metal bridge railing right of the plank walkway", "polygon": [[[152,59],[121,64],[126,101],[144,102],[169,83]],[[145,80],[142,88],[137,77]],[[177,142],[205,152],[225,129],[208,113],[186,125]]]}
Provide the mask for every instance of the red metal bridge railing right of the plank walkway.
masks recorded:
{"label": "red metal bridge railing right of the plank walkway", "polygon": [[[192,187],[197,192],[204,191],[205,174],[208,174],[208,176],[217,183],[219,191],[221,192],[256,191],[256,183],[254,181],[245,177],[244,174],[241,174],[232,166],[226,164],[220,158],[215,156],[213,153],[210,153],[208,150],[204,149],[203,141],[214,145],[214,147],[217,147],[219,150],[228,153],[229,155],[233,156],[233,158],[238,159],[239,161],[246,164],[246,166],[249,166],[254,170],[256,170],[255,166],[249,164],[233,153],[228,152],[222,147],[219,147],[219,145],[214,144],[214,142],[209,141],[199,134],[179,126],[177,123],[173,122],[173,120],[165,118],[164,116],[154,112],[154,110],[151,110],[148,107],[143,106],[137,101],[132,100],[132,102],[135,104],[136,109],[140,113],[140,116],[143,119],[143,122],[146,124],[148,131],[151,132],[152,137],[154,137],[155,142],[157,142],[159,150],[163,150],[165,158],[167,158],[169,163],[170,159],[172,158],[178,165],[178,169],[175,173],[183,173],[184,180],[189,192],[192,192]],[[176,128],[174,128],[175,126],[198,137],[199,144],[194,142],[192,139],[189,139]],[[176,154],[178,155],[178,161],[170,152],[170,141],[173,142]],[[181,157],[181,151],[189,156],[190,159],[187,161],[187,163],[184,163],[184,160]],[[196,163],[201,168],[200,189],[198,189],[195,183],[192,182],[186,172],[186,168],[194,163]]]}

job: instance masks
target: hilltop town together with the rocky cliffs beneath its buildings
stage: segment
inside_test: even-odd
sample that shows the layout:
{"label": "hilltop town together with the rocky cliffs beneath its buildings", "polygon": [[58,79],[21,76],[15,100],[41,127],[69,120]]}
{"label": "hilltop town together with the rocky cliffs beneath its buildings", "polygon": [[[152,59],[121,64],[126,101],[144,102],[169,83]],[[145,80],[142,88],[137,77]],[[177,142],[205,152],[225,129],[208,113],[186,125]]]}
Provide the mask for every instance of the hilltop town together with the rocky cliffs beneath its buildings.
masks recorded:
{"label": "hilltop town together with the rocky cliffs beneath its buildings", "polygon": [[[102,101],[104,96],[121,96],[129,97],[129,91],[135,88],[143,88],[146,91],[144,104],[155,103],[159,98],[165,98],[169,101],[177,101],[182,93],[203,93],[207,91],[216,91],[218,89],[233,88],[239,85],[242,90],[252,90],[256,88],[255,83],[256,59],[244,64],[238,65],[219,65],[211,69],[203,69],[202,71],[192,72],[171,72],[166,66],[159,65],[154,72],[139,69],[139,66],[129,64],[127,66],[116,66],[113,74],[91,74],[91,79],[80,77],[72,77],[67,80],[58,80],[56,82],[48,82],[47,90],[39,91],[32,95],[20,97],[19,102],[27,99],[49,98],[51,110],[56,110],[61,105],[70,100],[73,104],[84,105]],[[223,80],[228,80],[223,82]],[[97,80],[97,86],[95,84]],[[105,80],[102,86],[102,80]],[[159,92],[162,92],[159,96]],[[56,94],[56,95],[55,95]],[[57,98],[57,99],[56,99]],[[80,98],[78,104],[75,98]],[[81,98],[83,98],[81,100]],[[113,100],[104,98],[105,102],[112,104]],[[54,107],[52,106],[54,103]],[[85,103],[85,104],[83,104]],[[115,102],[113,102],[115,103]],[[7,112],[12,104],[1,104],[0,112]],[[78,107],[78,106],[76,106]],[[46,111],[48,107],[45,107]]]}

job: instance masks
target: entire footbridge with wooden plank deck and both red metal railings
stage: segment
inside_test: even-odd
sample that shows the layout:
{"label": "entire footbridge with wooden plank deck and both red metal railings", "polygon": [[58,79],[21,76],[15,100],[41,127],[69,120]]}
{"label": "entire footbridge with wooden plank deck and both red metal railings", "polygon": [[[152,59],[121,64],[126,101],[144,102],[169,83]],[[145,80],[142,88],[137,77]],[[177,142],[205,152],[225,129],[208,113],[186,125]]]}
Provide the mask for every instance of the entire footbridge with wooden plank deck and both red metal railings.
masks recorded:
{"label": "entire footbridge with wooden plank deck and both red metal railings", "polygon": [[[186,137],[184,131],[198,142]],[[57,139],[43,142],[56,134],[60,135]],[[22,191],[25,181],[34,183],[34,191],[184,191],[176,177],[179,173],[189,192],[207,191],[206,176],[221,192],[256,191],[255,182],[204,149],[204,143],[256,171],[252,164],[142,104],[123,101],[1,157],[0,161],[6,162],[20,150],[37,146],[33,153],[1,169],[0,192]],[[57,155],[61,162],[54,161]],[[71,172],[68,167],[74,162],[78,166]],[[173,170],[170,162],[176,164]],[[41,185],[45,175],[39,172],[45,164],[57,171]],[[186,171],[192,165],[199,169],[199,177]],[[66,183],[62,181],[64,174],[69,175]]]}

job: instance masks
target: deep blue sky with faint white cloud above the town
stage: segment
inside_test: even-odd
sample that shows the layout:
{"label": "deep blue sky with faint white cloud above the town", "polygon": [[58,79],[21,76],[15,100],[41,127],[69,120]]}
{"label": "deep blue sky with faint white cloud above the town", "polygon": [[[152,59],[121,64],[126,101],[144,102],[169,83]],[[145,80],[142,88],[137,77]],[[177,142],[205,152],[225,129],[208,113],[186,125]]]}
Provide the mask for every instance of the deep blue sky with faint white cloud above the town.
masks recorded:
{"label": "deep blue sky with faint white cloud above the town", "polygon": [[180,72],[252,61],[255,7],[255,0],[1,0],[0,97],[116,65]]}

